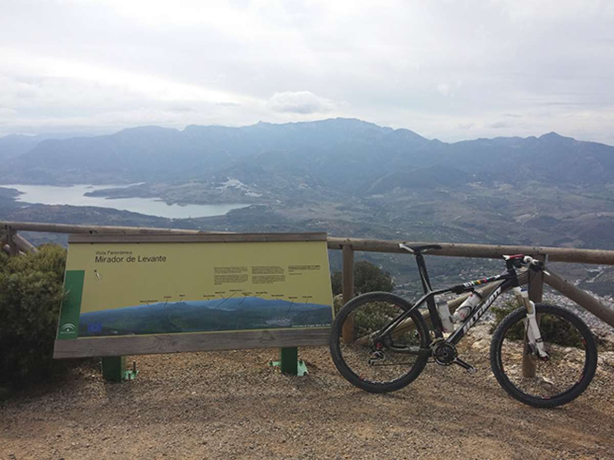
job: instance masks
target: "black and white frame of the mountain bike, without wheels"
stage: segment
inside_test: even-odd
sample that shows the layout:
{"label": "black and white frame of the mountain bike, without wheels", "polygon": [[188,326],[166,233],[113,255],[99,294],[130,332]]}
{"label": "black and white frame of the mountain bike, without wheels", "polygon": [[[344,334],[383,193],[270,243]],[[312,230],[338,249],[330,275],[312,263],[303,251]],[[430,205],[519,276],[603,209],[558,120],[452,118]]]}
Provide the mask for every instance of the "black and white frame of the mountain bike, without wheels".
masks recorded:
{"label": "black and white frame of the mountain bike, without wheels", "polygon": [[459,328],[457,328],[456,331],[450,334],[448,339],[445,340],[448,343],[456,345],[461,341],[462,337],[467,333],[467,331],[472,328],[473,324],[480,320],[481,316],[488,311],[489,307],[492,305],[492,302],[494,302],[503,291],[518,286],[518,274],[516,274],[514,262],[508,260],[505,263],[507,270],[500,275],[469,281],[463,283],[462,285],[452,286],[451,288],[433,290],[430,285],[429,274],[427,273],[426,263],[424,263],[424,257],[419,251],[414,252],[414,255],[416,256],[416,263],[418,263],[418,272],[420,275],[422,288],[424,289],[424,296],[420,297],[418,302],[413,304],[410,309],[406,310],[402,313],[402,315],[398,316],[398,318],[395,318],[391,321],[391,323],[380,329],[379,333],[374,337],[375,343],[378,342],[381,337],[384,337],[384,335],[394,331],[398,324],[406,320],[406,318],[408,318],[411,313],[414,312],[414,310],[418,309],[418,307],[425,302],[429,308],[430,321],[433,324],[435,338],[443,339],[443,326],[441,325],[437,307],[435,306],[435,296],[447,293],[461,294],[465,292],[473,292],[475,291],[475,286],[501,281],[502,283],[500,283],[500,285],[497,286],[497,288],[495,288],[494,291],[492,291],[492,293],[486,297],[486,299],[482,299],[480,304],[473,309],[473,312],[467,318],[465,318],[465,321],[461,324],[461,326],[459,326]]}

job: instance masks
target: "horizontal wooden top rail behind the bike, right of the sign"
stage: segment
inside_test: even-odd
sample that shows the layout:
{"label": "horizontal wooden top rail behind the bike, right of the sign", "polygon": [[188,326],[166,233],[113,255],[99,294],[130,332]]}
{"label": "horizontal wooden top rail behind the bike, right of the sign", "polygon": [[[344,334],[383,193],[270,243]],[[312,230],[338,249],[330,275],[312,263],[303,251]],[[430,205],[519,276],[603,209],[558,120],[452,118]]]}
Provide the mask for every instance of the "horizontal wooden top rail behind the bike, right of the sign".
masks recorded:
{"label": "horizontal wooden top rail behind the bike, right of the sign", "polygon": [[[345,245],[350,245],[354,251],[408,254],[406,250],[398,247],[398,243],[400,243],[400,241],[328,237],[329,249],[341,249]],[[501,256],[509,254],[526,254],[532,256],[548,255],[548,261],[550,262],[614,265],[614,251],[600,249],[432,242],[405,242],[405,244],[408,246],[425,244],[438,244],[441,246],[439,250],[430,250],[428,252],[429,256],[499,259]]]}

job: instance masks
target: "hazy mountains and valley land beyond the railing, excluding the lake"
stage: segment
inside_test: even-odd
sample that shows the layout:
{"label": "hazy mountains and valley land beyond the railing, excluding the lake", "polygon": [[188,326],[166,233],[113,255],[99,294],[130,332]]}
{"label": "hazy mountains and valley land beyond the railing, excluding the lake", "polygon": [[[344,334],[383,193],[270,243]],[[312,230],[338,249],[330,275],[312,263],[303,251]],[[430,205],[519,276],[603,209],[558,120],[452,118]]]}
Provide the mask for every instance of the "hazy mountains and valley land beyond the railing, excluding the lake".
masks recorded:
{"label": "hazy mountains and valley land beyond the railing, excluding the lake", "polygon": [[[337,118],[184,131],[144,127],[42,140],[25,153],[13,149],[19,153],[0,171],[1,220],[614,249],[614,147],[555,133],[446,144],[407,129]],[[117,186],[105,186],[109,178]],[[111,206],[160,199],[245,207],[213,217],[155,217],[25,205],[1,185],[77,182],[96,185],[85,192],[85,202],[104,199]],[[50,238],[64,237],[31,236],[35,243]],[[397,285],[416,287],[407,257],[357,257],[383,266]],[[500,269],[497,261],[430,259],[434,283]],[[338,251],[330,251],[330,260],[340,269]],[[593,279],[587,270],[594,268],[562,269],[602,295],[614,292],[613,270],[604,267]]]}

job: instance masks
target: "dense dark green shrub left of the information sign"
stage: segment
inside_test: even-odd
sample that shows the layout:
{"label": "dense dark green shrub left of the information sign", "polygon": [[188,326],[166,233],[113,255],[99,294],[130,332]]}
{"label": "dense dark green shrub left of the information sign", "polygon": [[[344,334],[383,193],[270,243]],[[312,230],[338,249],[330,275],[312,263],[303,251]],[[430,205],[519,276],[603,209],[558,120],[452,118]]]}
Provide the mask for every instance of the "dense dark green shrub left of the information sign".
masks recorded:
{"label": "dense dark green shrub left of the information sign", "polygon": [[65,264],[57,245],[13,258],[0,251],[0,386],[18,388],[54,369]]}

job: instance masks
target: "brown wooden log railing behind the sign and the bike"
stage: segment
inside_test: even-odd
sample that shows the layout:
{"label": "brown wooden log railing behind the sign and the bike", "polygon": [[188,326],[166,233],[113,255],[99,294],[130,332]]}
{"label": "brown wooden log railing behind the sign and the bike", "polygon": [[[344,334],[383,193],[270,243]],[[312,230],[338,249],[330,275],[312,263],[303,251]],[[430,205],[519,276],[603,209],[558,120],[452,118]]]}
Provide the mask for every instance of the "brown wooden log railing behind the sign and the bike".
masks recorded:
{"label": "brown wooden log railing behind the sign and the bike", "polygon": [[[19,253],[36,251],[36,248],[18,231],[55,232],[55,233],[85,233],[85,234],[199,234],[209,233],[197,230],[117,227],[97,225],[69,225],[54,223],[10,222],[0,221],[0,247],[15,256]],[[328,248],[341,250],[343,254],[343,301],[347,302],[354,296],[354,252],[371,251],[381,253],[407,253],[398,247],[398,241],[336,238],[328,237]],[[425,242],[406,242],[408,245],[432,244]],[[614,265],[614,251],[553,248],[513,245],[484,245],[464,243],[437,243],[440,250],[429,251],[433,256],[474,257],[500,259],[505,254],[525,254],[548,262],[566,262],[581,264]],[[408,254],[408,253],[407,253]],[[543,283],[550,285],[564,296],[584,307],[600,320],[614,328],[614,310],[599,302],[595,297],[565,280],[561,275],[548,267],[548,274],[530,274],[523,277],[524,283],[529,283],[529,297],[534,302],[541,302]],[[464,300],[464,297],[448,302],[451,310]]]}

